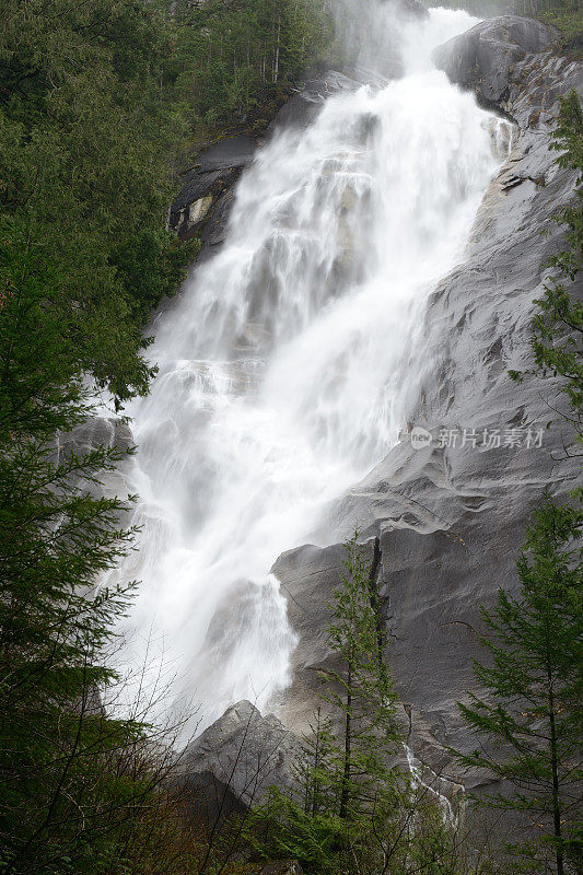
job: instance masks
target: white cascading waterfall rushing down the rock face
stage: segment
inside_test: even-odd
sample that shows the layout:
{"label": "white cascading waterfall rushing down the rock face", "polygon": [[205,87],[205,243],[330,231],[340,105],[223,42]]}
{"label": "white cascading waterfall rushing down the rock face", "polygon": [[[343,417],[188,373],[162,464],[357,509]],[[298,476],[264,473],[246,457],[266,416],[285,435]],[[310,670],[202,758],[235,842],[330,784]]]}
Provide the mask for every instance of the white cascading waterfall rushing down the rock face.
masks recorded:
{"label": "white cascading waterfall rushing down the rock face", "polygon": [[333,96],[260,150],[223,248],[158,326],[160,375],[128,410],[142,532],[120,573],[141,580],[135,656],[163,632],[202,725],[289,682],[270,567],[417,400],[424,301],[463,256],[508,128],[429,61],[474,23],[433,10],[407,25],[403,79]]}

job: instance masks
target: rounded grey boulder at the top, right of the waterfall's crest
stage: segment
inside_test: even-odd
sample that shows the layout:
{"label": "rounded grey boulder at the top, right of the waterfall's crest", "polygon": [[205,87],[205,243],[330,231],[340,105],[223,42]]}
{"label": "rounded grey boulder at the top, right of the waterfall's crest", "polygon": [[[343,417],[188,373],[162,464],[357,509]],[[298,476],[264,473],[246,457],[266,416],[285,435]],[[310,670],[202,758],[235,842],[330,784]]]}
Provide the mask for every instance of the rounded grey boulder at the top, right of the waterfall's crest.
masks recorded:
{"label": "rounded grey boulder at the top, right of the waterfall's crest", "polygon": [[473,89],[488,104],[500,103],[508,96],[513,65],[544,51],[559,36],[556,27],[533,19],[502,15],[439,46],[433,60],[452,82]]}

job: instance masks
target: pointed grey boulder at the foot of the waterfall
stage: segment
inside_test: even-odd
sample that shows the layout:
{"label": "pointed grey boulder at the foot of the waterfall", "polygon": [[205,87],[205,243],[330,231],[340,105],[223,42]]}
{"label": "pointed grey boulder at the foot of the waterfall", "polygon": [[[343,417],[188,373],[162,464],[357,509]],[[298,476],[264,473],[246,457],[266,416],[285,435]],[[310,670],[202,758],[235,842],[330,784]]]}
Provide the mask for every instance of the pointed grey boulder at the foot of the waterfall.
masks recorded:
{"label": "pointed grey boulder at the foot of the waterfall", "polygon": [[273,715],[237,702],[187,747],[182,771],[210,774],[243,805],[257,804],[271,785],[292,786],[298,738]]}

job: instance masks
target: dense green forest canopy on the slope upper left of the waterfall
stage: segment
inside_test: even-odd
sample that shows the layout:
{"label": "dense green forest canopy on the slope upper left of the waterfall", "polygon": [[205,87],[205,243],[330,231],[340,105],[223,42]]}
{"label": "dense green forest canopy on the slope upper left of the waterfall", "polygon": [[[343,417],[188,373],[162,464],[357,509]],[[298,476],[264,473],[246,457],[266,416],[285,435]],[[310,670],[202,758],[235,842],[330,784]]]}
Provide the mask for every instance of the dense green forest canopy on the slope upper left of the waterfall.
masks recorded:
{"label": "dense green forest canopy on the slope upper left of the waterfall", "polygon": [[[2,301],[31,361],[58,355],[61,377],[91,372],[120,398],[145,390],[141,326],[191,257],[164,230],[177,153],[201,120],[241,122],[299,74],[322,33],[315,15],[298,2],[185,4],[172,16],[129,0],[8,3]],[[50,294],[50,314],[23,311],[25,288]]]}

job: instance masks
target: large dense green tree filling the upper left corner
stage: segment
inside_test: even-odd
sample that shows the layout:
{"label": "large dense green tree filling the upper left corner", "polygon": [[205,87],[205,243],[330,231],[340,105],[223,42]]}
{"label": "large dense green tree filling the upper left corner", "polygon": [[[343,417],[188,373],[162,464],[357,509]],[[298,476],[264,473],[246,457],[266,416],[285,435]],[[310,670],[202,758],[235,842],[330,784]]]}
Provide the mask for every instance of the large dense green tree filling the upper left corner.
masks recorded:
{"label": "large dense green tree filling the upper left corner", "polygon": [[[140,0],[10,0],[0,31],[0,319],[8,371],[59,358],[127,398],[145,392],[144,320],[191,247],[164,231],[185,131],[163,20]],[[20,320],[31,349],[18,350]],[[42,342],[50,326],[50,354]],[[10,331],[12,330],[12,337]],[[7,386],[9,386],[7,388]],[[2,402],[12,404],[5,394]]]}

